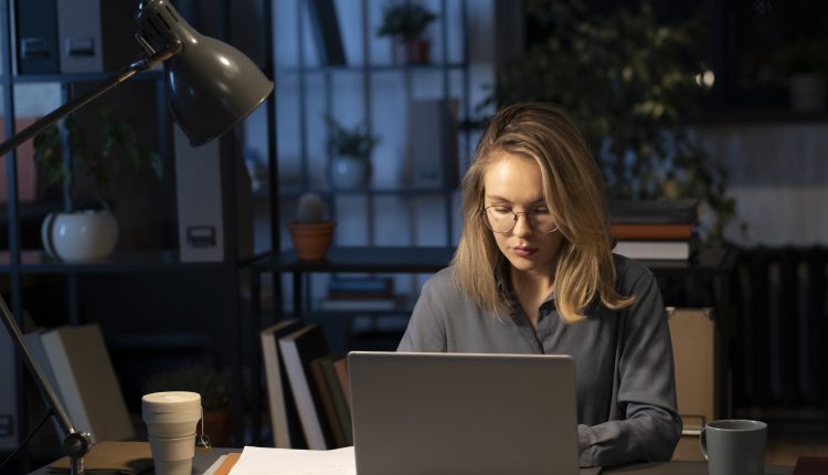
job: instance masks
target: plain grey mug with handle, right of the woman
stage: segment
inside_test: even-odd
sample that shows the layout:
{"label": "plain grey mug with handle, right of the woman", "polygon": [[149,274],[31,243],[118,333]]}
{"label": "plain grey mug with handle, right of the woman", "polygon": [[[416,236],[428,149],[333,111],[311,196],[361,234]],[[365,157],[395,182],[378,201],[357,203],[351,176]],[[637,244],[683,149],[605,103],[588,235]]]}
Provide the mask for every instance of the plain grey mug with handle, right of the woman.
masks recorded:
{"label": "plain grey mug with handle, right of the woman", "polygon": [[764,475],[767,424],[746,419],[709,422],[701,430],[701,453],[709,475]]}

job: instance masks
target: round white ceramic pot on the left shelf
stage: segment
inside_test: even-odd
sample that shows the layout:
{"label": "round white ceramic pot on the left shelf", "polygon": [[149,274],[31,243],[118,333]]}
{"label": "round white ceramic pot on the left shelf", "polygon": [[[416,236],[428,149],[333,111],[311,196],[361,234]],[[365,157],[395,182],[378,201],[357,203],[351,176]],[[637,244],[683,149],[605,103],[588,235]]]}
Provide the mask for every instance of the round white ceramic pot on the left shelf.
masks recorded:
{"label": "round white ceramic pot on the left shelf", "polygon": [[61,261],[95,261],[108,256],[118,241],[118,223],[106,210],[52,212],[41,225],[43,247]]}

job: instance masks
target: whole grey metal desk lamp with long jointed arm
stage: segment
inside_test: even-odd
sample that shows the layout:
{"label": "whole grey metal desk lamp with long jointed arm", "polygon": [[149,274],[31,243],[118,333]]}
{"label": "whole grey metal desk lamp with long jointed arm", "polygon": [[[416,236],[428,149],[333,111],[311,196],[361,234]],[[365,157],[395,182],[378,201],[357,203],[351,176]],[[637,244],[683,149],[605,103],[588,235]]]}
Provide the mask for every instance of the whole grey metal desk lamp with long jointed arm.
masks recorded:
{"label": "whole grey metal desk lamp with long jointed arm", "polygon": [[[136,21],[136,40],[144,46],[146,54],[1,144],[0,157],[107,91],[161,63],[173,118],[193,146],[205,144],[229,131],[273,91],[273,82],[247,56],[229,44],[199,34],[168,0],[142,0],[138,6]],[[63,450],[72,460],[72,474],[83,473],[83,456],[92,444],[89,434],[75,430],[49,380],[25,346],[22,332],[2,296],[0,316],[23,361],[34,376],[50,413],[63,431]]]}

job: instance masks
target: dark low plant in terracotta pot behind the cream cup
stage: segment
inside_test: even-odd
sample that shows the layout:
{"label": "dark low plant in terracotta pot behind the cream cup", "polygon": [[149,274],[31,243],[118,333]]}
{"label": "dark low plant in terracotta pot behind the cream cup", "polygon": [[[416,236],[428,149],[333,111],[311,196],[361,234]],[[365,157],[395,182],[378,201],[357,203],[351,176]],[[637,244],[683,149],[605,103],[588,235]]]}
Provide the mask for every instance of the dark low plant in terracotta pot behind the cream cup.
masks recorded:
{"label": "dark low plant in terracotta pot behind the cream cup", "polygon": [[[144,381],[145,394],[161,391],[190,391],[201,394],[203,430],[213,446],[230,446],[233,433],[230,373],[200,361],[187,362],[157,372]],[[199,433],[201,428],[199,428]]]}

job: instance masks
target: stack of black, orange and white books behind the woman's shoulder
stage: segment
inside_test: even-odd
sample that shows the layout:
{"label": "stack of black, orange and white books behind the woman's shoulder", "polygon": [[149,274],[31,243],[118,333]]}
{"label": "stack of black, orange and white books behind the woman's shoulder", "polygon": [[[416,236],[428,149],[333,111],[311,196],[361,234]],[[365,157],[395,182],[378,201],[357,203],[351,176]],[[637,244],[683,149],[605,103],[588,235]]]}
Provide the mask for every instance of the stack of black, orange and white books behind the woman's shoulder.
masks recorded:
{"label": "stack of black, orange and white books behind the woman's shoulder", "polygon": [[611,201],[616,254],[640,260],[689,260],[698,250],[698,201]]}

